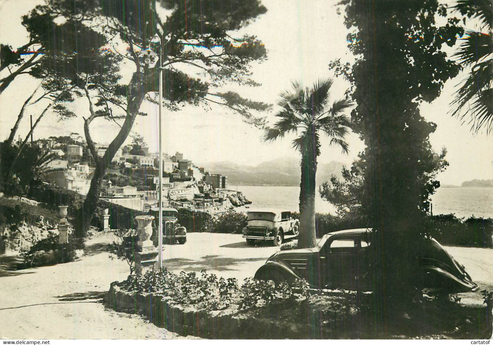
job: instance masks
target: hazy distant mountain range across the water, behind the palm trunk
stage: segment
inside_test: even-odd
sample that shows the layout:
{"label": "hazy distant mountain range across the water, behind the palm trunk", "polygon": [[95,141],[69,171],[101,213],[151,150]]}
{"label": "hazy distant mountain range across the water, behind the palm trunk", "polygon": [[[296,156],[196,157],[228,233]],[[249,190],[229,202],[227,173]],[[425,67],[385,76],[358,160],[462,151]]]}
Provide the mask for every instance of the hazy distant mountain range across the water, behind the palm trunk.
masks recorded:
{"label": "hazy distant mountain range across the water, behind the palm trunk", "polygon": [[[214,162],[200,165],[209,173],[220,173],[228,177],[228,185],[255,186],[299,186],[301,171],[298,158],[283,157],[264,162],[256,167],[232,162]],[[330,179],[332,174],[341,177],[343,163],[332,161],[318,163],[317,184]]]}

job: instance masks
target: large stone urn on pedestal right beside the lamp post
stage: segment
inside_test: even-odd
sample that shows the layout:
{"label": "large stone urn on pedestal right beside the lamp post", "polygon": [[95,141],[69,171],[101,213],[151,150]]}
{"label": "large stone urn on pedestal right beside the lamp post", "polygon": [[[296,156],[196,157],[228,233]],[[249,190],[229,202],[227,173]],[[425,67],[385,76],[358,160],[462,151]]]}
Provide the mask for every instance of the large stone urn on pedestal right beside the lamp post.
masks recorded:
{"label": "large stone urn on pedestal right beside the lamp post", "polygon": [[152,235],[153,216],[137,216],[137,232],[139,234],[139,242],[137,242],[137,250],[135,253],[135,273],[137,275],[145,274],[152,270],[156,264],[157,248],[153,245],[150,237]]}

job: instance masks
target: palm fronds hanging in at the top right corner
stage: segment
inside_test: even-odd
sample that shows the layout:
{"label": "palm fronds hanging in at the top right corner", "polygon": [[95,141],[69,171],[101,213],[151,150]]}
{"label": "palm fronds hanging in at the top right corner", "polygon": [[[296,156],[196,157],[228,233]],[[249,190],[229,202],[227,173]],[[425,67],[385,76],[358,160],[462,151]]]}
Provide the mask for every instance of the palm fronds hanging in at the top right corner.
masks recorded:
{"label": "palm fronds hanging in at the top right corner", "polygon": [[471,130],[478,132],[486,128],[487,133],[490,133],[493,129],[492,0],[458,0],[454,8],[468,18],[478,19],[480,30],[487,32],[466,30],[454,54],[458,62],[470,67],[471,71],[455,93],[452,115],[463,120],[470,113]]}

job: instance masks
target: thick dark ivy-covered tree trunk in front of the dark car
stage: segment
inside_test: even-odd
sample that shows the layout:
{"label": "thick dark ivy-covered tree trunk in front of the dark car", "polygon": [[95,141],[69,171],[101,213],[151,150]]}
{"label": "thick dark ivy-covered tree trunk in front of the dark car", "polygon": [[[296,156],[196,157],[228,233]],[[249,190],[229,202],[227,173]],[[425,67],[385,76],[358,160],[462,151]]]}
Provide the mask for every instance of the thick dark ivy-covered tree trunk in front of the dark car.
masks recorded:
{"label": "thick dark ivy-covered tree trunk in front of the dark car", "polygon": [[407,301],[398,304],[401,308],[409,306],[410,279],[419,270],[413,249],[423,239],[423,179],[433,171],[429,135],[436,128],[421,116],[419,105],[436,99],[458,74],[458,64],[442,45],[454,46],[463,30],[437,0],[341,4],[356,60],[338,70],[352,84],[357,104],[352,129],[366,144],[361,204],[378,234],[372,258],[375,316],[376,326],[385,327],[390,311],[384,306],[394,300]]}

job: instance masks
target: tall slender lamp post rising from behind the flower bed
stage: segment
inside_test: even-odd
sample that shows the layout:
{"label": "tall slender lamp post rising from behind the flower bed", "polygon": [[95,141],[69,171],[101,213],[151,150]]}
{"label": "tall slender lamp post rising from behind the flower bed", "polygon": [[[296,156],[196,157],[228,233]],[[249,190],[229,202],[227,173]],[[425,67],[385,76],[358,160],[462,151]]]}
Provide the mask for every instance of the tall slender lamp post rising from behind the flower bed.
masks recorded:
{"label": "tall slender lamp post rising from behind the flower bed", "polygon": [[[161,269],[163,267],[163,138],[162,138],[162,103],[163,103],[163,59],[162,59],[162,45],[161,38],[156,34],[152,39],[151,43],[159,43],[156,46],[159,47],[159,179],[158,179],[158,191],[159,191],[159,228],[158,228],[158,267]],[[144,62],[149,65],[151,63],[151,57],[157,56],[158,54],[152,49],[147,48],[142,50],[142,54],[145,55]]]}

